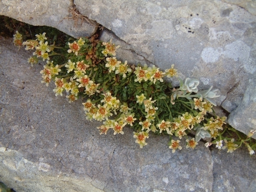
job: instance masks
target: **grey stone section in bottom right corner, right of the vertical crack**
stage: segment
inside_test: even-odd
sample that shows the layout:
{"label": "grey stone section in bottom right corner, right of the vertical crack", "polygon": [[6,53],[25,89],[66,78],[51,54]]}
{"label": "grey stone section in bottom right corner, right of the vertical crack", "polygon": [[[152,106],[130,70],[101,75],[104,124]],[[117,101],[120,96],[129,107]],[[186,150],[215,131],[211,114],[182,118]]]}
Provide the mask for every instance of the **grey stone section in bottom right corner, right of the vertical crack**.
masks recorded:
{"label": "grey stone section in bottom right corner, right of the vertical crack", "polygon": [[[256,191],[255,156],[248,157],[243,147],[227,154],[224,150],[212,151],[214,192],[254,192]],[[246,159],[244,159],[246,158]]]}

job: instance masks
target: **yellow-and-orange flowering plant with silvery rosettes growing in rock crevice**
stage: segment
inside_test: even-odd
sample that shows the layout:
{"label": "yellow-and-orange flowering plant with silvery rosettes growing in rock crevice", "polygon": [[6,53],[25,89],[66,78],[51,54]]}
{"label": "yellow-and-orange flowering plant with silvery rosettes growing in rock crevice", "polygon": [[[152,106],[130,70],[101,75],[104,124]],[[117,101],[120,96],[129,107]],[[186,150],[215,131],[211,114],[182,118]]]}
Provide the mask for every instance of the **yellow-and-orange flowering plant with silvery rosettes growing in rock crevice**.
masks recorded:
{"label": "yellow-and-orange flowering plant with silvery rosettes growing in rock crevice", "polygon": [[[111,40],[101,42],[96,36],[70,38],[64,48],[55,43],[49,45],[46,40],[46,33],[42,33],[22,43],[22,35],[14,34],[16,46],[35,50],[28,59],[30,64],[46,61],[40,71],[42,83],[48,86],[53,80],[55,95],[62,96],[66,91],[70,103],[84,99],[86,119],[103,121],[97,127],[100,134],[107,134],[108,130],[114,135],[124,134],[124,127],[131,126],[140,148],[147,145],[149,133],[154,132],[170,137],[169,148],[173,153],[182,149],[180,142],[184,138],[186,148],[191,149],[196,148],[201,139],[211,138],[206,147],[214,144],[231,153],[244,144],[249,153],[254,154],[256,144],[251,136],[255,130],[242,138],[226,124],[226,117],[214,115],[216,102],[213,99],[220,96],[217,89],[212,90],[211,86],[208,90],[198,90],[200,82],[192,78],[180,79],[177,88],[164,82],[164,78],[178,77],[174,64],[164,72],[155,65],[130,66],[115,57],[119,46]],[[54,52],[55,49],[63,49],[64,56]],[[65,61],[54,60],[57,56]],[[238,135],[237,141],[230,138],[231,131]],[[194,137],[189,137],[189,133]]]}

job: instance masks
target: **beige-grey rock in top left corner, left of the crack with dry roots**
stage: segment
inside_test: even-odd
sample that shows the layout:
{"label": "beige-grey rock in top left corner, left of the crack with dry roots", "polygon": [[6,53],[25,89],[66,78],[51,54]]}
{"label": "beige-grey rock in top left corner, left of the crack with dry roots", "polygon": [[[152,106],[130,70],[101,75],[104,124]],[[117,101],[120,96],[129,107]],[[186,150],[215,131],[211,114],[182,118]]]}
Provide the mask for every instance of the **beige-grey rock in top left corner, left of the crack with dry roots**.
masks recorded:
{"label": "beige-grey rock in top left corner, left of the crack with dry roots", "polygon": [[[97,29],[97,23],[85,20],[77,23],[72,19],[70,8],[72,0],[1,0],[0,15],[36,25],[51,26],[74,37],[91,36]],[[93,25],[95,26],[93,26]]]}

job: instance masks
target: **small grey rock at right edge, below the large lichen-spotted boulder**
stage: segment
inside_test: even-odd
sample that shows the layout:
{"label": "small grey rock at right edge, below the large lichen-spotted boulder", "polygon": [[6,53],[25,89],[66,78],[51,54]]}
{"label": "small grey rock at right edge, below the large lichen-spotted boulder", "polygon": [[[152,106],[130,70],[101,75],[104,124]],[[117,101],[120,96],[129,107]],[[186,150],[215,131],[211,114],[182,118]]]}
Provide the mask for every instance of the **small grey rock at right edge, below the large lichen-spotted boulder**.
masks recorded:
{"label": "small grey rock at right edge, below the large lichen-spotted boulder", "polygon": [[[240,105],[228,116],[228,123],[248,134],[250,130],[256,129],[256,78],[248,82],[247,89]],[[256,139],[256,134],[252,136]]]}

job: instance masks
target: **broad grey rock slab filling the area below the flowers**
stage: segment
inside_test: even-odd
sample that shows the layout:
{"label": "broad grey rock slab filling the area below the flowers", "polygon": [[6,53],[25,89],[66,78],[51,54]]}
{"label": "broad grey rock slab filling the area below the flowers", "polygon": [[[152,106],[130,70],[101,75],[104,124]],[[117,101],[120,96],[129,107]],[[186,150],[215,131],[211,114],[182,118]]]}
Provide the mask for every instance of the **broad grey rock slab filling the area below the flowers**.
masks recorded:
{"label": "broad grey rock slab filling the area below the flowers", "polygon": [[43,64],[32,68],[28,57],[0,38],[0,180],[17,192],[254,191],[256,156],[246,150],[199,142],[172,154],[167,137],[150,135],[140,149],[130,128],[100,135],[82,101],[55,97],[53,84],[40,83]]}

